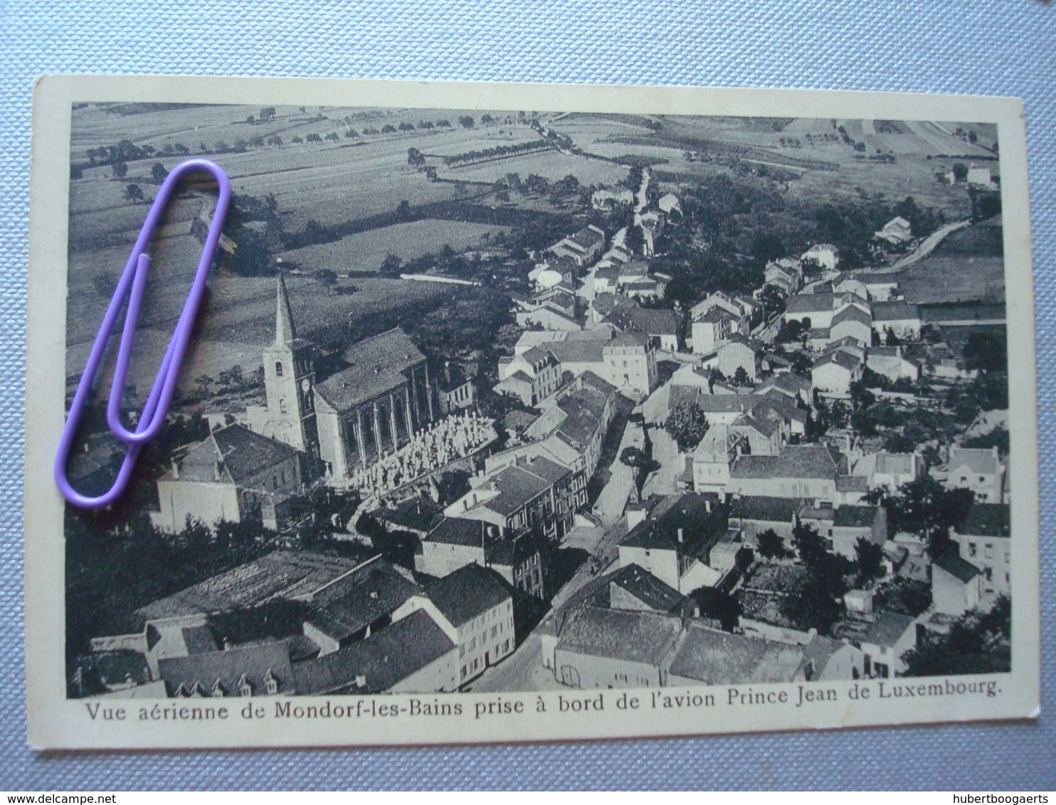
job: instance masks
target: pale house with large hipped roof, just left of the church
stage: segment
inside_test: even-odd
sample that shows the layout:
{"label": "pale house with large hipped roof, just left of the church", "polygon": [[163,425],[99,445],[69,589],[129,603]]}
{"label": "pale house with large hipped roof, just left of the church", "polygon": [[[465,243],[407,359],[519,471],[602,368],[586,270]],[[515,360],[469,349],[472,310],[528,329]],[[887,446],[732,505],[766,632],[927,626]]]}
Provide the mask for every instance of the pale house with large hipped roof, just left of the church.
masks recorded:
{"label": "pale house with large hipped roof, just left of the church", "polygon": [[286,528],[290,500],[305,488],[308,457],[243,425],[212,430],[157,479],[161,510],[155,528],[174,534],[199,521],[215,530],[221,522],[259,518],[266,529]]}

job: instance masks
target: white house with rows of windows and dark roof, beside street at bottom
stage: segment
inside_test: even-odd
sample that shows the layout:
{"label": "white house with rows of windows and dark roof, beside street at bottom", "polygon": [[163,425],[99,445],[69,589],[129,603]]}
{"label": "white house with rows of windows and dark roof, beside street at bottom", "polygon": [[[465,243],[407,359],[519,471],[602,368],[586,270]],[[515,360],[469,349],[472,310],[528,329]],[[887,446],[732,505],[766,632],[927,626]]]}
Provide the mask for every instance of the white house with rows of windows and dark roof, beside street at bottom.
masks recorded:
{"label": "white house with rows of windows and dark roof, beside street at bottom", "polygon": [[458,647],[458,685],[513,653],[513,596],[493,570],[467,564],[435,581],[394,614],[394,621],[425,610]]}

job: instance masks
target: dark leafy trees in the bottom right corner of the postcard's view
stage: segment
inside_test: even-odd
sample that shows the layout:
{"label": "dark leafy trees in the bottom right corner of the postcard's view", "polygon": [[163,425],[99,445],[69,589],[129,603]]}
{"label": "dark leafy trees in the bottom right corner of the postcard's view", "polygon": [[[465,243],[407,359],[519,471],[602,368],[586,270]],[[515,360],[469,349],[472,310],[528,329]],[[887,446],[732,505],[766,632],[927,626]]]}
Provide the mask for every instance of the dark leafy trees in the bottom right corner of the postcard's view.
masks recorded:
{"label": "dark leafy trees in the bottom right corner of the postcard's view", "polygon": [[989,612],[966,612],[947,634],[925,632],[902,659],[906,676],[1007,673],[1012,670],[1012,601],[1002,595]]}

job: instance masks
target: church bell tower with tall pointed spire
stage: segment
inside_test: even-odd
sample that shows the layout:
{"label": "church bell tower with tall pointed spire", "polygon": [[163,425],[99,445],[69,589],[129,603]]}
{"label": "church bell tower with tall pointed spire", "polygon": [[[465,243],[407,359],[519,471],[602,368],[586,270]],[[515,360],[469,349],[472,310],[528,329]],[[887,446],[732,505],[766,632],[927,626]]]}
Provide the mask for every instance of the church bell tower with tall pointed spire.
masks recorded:
{"label": "church bell tower with tall pointed spire", "polygon": [[276,294],[275,341],[264,348],[264,391],[270,430],[265,436],[318,457],[313,347],[310,342],[297,338],[286,280],[281,271]]}

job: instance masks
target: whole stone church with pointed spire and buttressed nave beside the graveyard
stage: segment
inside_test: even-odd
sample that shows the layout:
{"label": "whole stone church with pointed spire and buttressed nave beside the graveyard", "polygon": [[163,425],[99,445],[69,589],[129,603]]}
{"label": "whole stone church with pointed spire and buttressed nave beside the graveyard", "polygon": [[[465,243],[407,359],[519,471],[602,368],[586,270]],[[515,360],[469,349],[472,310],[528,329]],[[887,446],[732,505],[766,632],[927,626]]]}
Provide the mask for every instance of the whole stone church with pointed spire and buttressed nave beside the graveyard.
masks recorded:
{"label": "whole stone church with pointed spire and buttressed nave beside the graveyard", "polygon": [[438,407],[426,357],[398,327],[353,344],[342,364],[317,380],[315,346],[297,337],[280,273],[275,341],[264,349],[266,404],[247,408],[246,425],[320,459],[335,485],[407,444]]}

